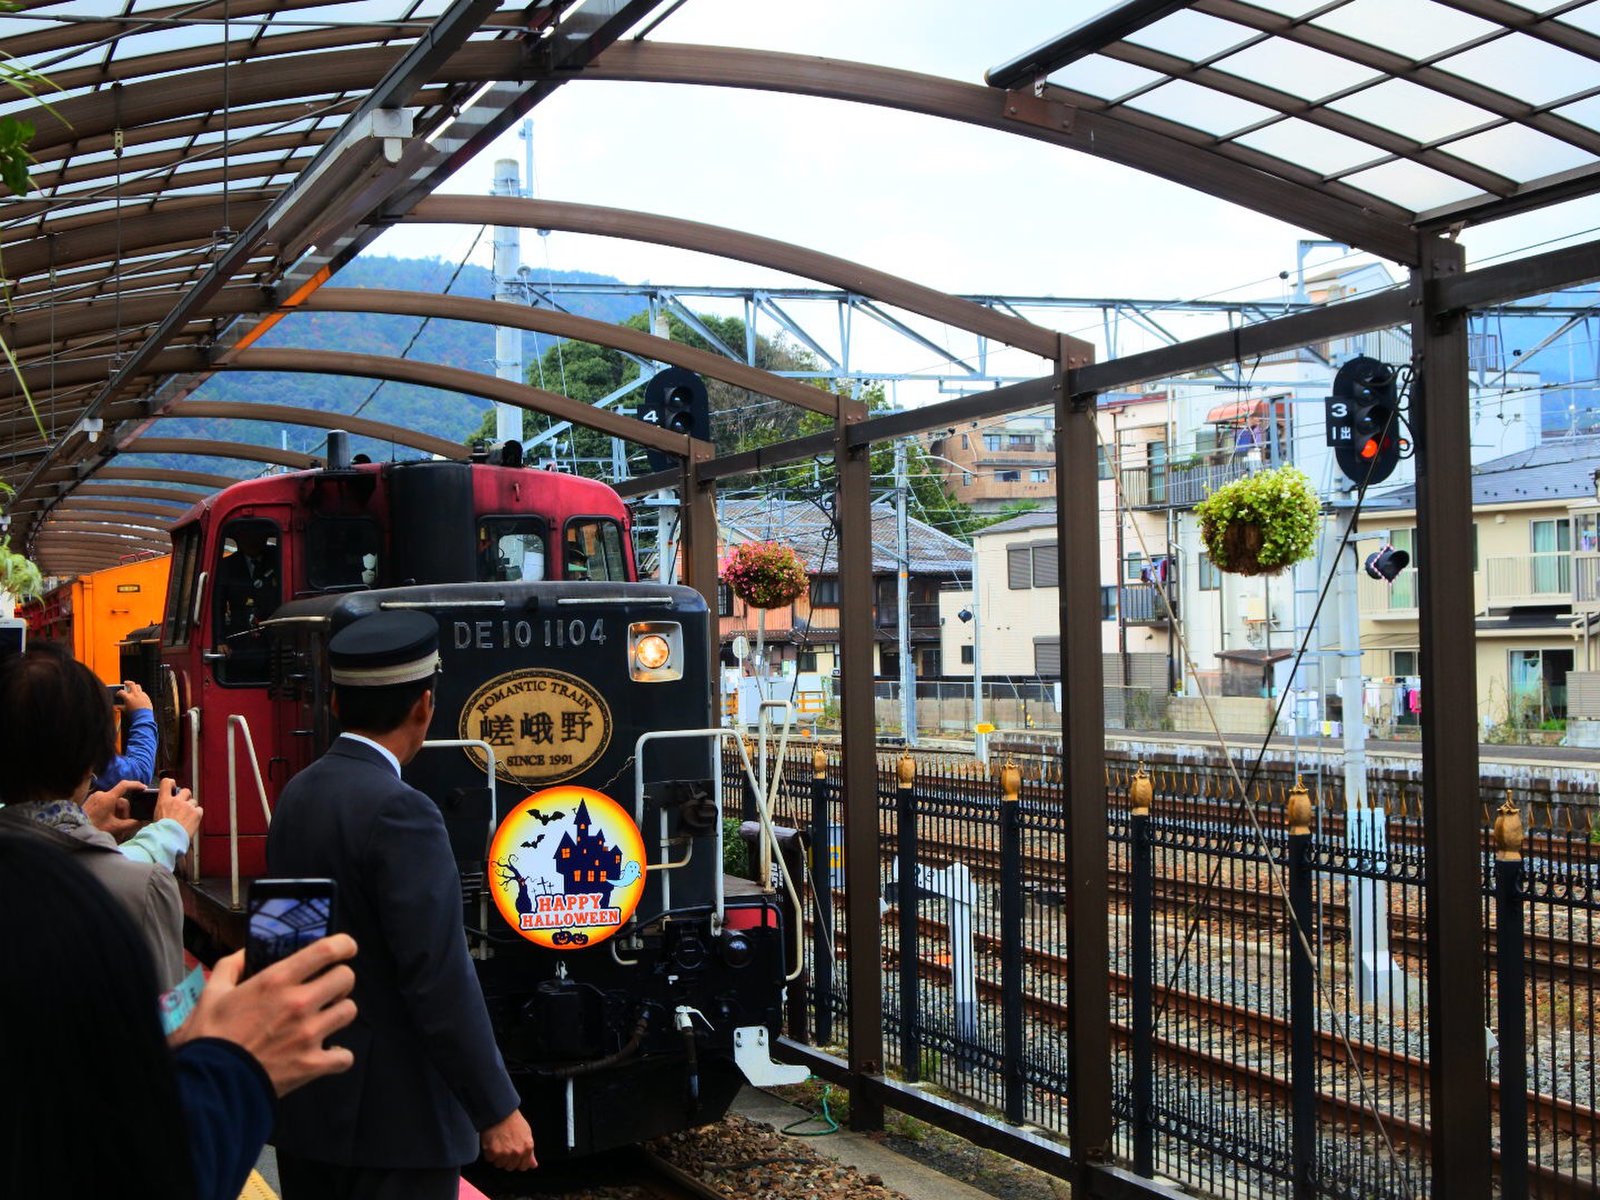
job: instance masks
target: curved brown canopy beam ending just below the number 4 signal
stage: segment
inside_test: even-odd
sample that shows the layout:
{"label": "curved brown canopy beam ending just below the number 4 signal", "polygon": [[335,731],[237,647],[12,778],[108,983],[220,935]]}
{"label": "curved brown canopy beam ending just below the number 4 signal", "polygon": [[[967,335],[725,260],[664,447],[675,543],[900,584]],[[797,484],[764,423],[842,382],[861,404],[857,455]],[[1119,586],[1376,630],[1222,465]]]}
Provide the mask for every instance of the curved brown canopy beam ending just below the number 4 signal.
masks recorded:
{"label": "curved brown canopy beam ending just below the number 4 signal", "polygon": [[560,421],[573,421],[602,434],[635,442],[653,450],[664,450],[678,458],[694,453],[694,445],[709,450],[709,443],[694,443],[683,434],[622,416],[606,408],[595,408],[581,400],[571,400],[555,392],[546,392],[528,384],[496,379],[482,371],[466,371],[459,366],[419,363],[408,358],[386,358],[378,354],[349,354],[344,350],[266,350],[251,347],[240,350],[229,362],[216,363],[221,371],[299,371],[307,374],[355,374],[365,379],[389,379],[390,382],[421,384],[445,392],[480,395],[486,400],[502,400],[518,408],[544,413]]}

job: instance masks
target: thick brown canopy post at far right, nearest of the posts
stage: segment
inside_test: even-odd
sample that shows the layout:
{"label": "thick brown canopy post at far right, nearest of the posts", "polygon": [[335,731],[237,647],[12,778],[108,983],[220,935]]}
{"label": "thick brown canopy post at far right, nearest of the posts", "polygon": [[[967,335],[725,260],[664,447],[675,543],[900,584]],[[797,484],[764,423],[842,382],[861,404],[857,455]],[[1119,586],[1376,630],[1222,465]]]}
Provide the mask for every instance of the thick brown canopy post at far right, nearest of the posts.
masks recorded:
{"label": "thick brown canopy post at far right, nearest of the posts", "polygon": [[1461,246],[1419,242],[1411,274],[1411,429],[1416,437],[1418,627],[1422,650],[1422,819],[1427,870],[1429,1123],[1434,1195],[1490,1195],[1483,898],[1467,315],[1438,288]]}

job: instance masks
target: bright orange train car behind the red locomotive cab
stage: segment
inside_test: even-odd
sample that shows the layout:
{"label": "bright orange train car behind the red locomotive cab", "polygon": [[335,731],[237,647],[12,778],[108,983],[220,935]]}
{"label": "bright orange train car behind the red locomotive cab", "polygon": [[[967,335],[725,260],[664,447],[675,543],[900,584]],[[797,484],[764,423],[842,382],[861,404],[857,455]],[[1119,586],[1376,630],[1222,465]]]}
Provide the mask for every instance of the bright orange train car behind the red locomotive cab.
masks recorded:
{"label": "bright orange train car behind the red locomotive cab", "polygon": [[29,642],[54,642],[106,683],[122,683],[118,645],[160,624],[170,565],[171,555],[158,555],[69,579],[21,611]]}

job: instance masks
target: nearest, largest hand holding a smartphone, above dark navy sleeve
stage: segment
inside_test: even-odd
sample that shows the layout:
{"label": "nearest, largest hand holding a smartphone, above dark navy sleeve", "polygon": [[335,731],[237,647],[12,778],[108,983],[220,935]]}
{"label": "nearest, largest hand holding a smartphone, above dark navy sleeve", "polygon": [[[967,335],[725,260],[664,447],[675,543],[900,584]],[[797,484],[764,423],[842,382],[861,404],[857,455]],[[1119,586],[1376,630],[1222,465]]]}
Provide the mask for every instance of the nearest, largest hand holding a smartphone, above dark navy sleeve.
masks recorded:
{"label": "nearest, largest hand holding a smartphone, above dark navy sleeve", "polygon": [[254,1056],[280,1096],[349,1070],[355,1056],[323,1042],[355,1019],[355,1002],[349,998],[355,971],[334,965],[354,957],[355,939],[336,933],[240,982],[245,954],[230,954],[211,970],[200,1003],[171,1043],[181,1046],[197,1037],[234,1042]]}

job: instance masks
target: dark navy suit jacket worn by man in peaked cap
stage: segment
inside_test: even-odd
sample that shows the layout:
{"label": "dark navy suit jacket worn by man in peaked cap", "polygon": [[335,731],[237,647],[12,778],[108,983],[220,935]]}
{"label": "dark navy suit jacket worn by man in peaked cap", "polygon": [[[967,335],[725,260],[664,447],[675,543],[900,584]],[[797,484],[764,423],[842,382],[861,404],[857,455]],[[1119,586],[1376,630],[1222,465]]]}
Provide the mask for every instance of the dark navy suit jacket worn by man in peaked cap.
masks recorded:
{"label": "dark navy suit jacket worn by man in peaked cap", "polygon": [[494,1045],[461,923],[438,806],[373,747],[338,739],[283,789],[267,835],[277,877],[333,878],[355,938],[357,1018],[333,1040],[355,1066],[283,1098],[277,1146],[325,1163],[450,1168],[517,1090]]}

